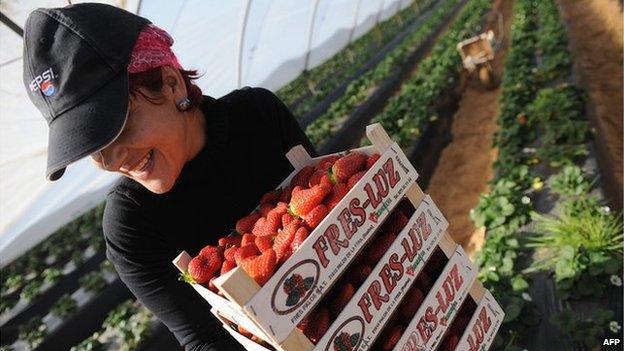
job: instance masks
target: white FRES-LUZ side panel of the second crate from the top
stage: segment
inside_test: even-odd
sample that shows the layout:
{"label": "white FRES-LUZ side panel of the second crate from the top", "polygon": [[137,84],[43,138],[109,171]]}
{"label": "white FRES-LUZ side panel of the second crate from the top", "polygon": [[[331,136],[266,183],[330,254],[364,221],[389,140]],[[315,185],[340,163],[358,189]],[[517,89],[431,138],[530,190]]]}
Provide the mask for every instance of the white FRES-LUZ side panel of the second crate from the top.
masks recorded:
{"label": "white FRES-LUZ side panel of the second crate from the top", "polygon": [[440,210],[426,196],[314,350],[369,349],[447,227]]}

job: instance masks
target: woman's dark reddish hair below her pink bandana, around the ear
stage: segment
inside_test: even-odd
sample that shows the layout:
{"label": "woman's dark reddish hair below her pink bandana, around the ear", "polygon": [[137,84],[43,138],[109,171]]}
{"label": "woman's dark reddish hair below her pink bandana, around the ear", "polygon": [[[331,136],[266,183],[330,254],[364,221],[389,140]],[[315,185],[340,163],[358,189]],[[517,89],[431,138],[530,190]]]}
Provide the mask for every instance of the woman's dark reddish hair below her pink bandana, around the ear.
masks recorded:
{"label": "woman's dark reddish hair below her pink bandana, around the ear", "polygon": [[[182,74],[182,79],[184,80],[186,91],[188,92],[188,98],[191,100],[191,108],[199,107],[202,100],[202,91],[193,81],[201,77],[201,75],[199,75],[196,70],[187,71],[185,69],[179,69],[179,71],[180,74]],[[128,77],[130,78],[130,94],[138,93],[154,104],[162,103],[158,96],[148,96],[139,90],[139,88],[146,88],[156,95],[160,94],[163,87],[161,67],[152,68],[145,72],[130,73]]]}

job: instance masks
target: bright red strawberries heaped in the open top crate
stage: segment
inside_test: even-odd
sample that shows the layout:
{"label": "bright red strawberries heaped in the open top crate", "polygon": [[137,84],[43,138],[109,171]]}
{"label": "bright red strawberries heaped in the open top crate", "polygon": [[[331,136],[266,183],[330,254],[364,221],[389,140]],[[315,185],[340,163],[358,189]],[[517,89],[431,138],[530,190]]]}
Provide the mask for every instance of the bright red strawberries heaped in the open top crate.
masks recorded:
{"label": "bright red strawberries heaped in the open top crate", "polygon": [[379,157],[350,152],[303,167],[289,185],[262,196],[260,206],[239,219],[218,246],[204,247],[183,280],[218,292],[213,280],[238,266],[264,285]]}

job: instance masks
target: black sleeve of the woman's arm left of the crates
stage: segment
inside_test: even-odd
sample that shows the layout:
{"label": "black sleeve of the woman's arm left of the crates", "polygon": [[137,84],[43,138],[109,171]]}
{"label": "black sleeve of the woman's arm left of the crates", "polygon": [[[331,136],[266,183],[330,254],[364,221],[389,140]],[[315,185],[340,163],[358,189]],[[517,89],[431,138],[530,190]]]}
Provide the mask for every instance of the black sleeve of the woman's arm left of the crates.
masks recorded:
{"label": "black sleeve of the woman's arm left of the crates", "polygon": [[116,192],[108,195],[103,221],[106,254],[121,280],[186,350],[243,350],[206,301],[178,281],[171,263],[175,254],[154,226],[133,200]]}

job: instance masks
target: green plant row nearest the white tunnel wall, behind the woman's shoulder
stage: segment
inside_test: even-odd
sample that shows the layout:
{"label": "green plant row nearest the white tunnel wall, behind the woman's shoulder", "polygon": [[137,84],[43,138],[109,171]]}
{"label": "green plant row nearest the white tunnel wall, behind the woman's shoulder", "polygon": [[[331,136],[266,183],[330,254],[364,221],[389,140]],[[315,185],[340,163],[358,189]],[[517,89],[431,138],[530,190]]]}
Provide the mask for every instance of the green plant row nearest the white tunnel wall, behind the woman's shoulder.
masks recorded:
{"label": "green plant row nearest the white tunnel wall, behind the woman's shoulder", "polygon": [[351,77],[401,30],[409,26],[431,2],[432,0],[414,1],[408,8],[379,23],[329,60],[304,72],[280,88],[276,94],[293,109],[295,116],[303,116],[341,82]]}

